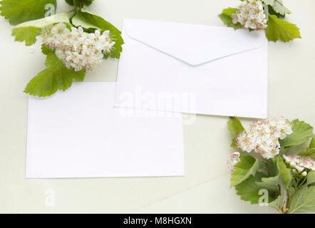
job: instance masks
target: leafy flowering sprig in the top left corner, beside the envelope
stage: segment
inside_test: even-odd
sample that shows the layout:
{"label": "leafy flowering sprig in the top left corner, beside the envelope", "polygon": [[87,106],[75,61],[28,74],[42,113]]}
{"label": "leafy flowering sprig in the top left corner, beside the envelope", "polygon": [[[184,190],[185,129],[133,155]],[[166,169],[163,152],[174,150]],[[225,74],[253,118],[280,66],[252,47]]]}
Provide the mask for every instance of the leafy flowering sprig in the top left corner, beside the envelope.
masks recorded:
{"label": "leafy flowering sprig in the top left corner, beside the envelope", "polygon": [[66,90],[73,81],[83,81],[86,71],[92,70],[106,58],[120,58],[123,38],[102,17],[88,12],[93,0],[66,0],[71,11],[45,17],[47,6],[56,11],[56,0],[3,0],[1,16],[9,20],[15,41],[31,46],[42,42],[46,68],[26,86],[24,92],[48,96]]}

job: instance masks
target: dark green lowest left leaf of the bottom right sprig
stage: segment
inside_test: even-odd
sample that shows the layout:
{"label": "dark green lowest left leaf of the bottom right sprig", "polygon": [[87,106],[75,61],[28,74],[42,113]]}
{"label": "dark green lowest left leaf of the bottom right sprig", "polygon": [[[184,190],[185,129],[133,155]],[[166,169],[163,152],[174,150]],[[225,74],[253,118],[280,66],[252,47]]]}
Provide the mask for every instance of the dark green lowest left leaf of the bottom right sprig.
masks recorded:
{"label": "dark green lowest left leaf of the bottom right sprig", "polygon": [[[257,182],[260,182],[262,178],[266,177],[262,172],[257,172],[255,176],[250,175],[246,180],[235,187],[237,195],[241,197],[244,201],[250,201],[252,204],[258,204],[259,198],[262,195],[259,195],[259,191],[262,190],[261,187],[257,185]],[[271,199],[268,192],[268,201]]]}

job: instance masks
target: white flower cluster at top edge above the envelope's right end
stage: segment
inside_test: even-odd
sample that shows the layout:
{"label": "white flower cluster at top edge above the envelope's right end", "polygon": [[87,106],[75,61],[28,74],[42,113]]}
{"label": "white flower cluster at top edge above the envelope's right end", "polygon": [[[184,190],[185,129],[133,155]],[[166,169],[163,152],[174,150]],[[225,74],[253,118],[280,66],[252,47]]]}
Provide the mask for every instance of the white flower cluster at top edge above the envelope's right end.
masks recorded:
{"label": "white flower cluster at top edge above the envelope's right end", "polygon": [[242,5],[237,7],[237,11],[231,17],[234,24],[240,23],[244,28],[255,30],[267,28],[264,7],[262,1],[259,0],[245,0]]}

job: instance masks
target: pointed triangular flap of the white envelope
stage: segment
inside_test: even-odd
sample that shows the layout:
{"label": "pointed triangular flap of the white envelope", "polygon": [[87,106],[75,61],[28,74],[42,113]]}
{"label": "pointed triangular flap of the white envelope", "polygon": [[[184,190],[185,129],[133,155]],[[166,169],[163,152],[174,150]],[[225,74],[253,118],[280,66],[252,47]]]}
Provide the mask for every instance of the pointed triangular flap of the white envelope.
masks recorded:
{"label": "pointed triangular flap of the white envelope", "polygon": [[130,38],[192,66],[260,48],[262,32],[244,29],[124,19]]}

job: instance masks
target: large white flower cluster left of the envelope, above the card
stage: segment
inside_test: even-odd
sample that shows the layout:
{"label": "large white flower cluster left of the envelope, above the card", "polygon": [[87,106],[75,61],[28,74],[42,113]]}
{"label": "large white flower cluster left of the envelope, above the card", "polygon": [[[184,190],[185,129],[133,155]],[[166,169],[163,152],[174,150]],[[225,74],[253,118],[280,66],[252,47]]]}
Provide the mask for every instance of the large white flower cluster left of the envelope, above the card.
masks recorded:
{"label": "large white flower cluster left of the envelope, above the card", "polygon": [[56,49],[56,56],[65,63],[67,68],[75,71],[91,70],[103,61],[103,55],[109,53],[115,42],[111,41],[109,31],[100,34],[86,33],[83,28],[72,27],[59,23],[41,33],[46,47]]}

